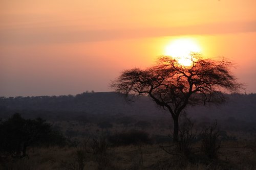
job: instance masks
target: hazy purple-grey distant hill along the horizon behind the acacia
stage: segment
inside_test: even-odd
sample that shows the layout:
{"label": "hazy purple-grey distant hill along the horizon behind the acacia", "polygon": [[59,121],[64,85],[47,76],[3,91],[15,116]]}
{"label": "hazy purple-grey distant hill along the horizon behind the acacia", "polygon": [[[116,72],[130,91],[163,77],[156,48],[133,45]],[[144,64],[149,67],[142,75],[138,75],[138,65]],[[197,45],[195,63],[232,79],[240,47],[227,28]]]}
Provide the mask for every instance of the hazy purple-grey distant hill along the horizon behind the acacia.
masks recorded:
{"label": "hazy purple-grey distant hill along the horizon behind the acacia", "polygon": [[[188,107],[186,112],[193,118],[227,119],[256,122],[256,94],[226,94],[228,102],[219,106]],[[158,116],[162,111],[146,96],[127,102],[116,92],[84,92],[77,95],[32,96],[0,98],[0,118],[14,112],[29,116],[54,114],[104,114],[104,115],[148,115]],[[33,116],[34,114],[34,116]]]}

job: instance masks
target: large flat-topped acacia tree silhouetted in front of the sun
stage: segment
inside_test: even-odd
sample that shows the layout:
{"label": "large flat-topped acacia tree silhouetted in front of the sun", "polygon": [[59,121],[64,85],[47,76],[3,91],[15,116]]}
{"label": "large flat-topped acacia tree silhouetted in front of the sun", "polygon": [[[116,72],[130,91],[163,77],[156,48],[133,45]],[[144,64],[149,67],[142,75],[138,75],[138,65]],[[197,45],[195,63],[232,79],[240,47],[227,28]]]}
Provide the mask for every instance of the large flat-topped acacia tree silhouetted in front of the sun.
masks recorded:
{"label": "large flat-topped acacia tree silhouetted in front of the sun", "polygon": [[174,120],[174,142],[178,141],[179,116],[188,106],[222,103],[225,92],[238,92],[242,86],[230,71],[231,62],[203,59],[191,54],[191,65],[184,66],[172,57],[160,57],[147,69],[124,70],[112,82],[115,91],[133,95],[148,95]]}

